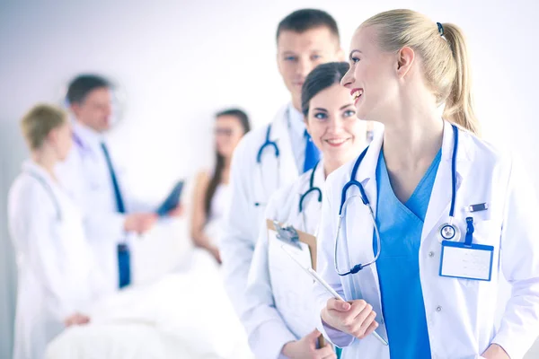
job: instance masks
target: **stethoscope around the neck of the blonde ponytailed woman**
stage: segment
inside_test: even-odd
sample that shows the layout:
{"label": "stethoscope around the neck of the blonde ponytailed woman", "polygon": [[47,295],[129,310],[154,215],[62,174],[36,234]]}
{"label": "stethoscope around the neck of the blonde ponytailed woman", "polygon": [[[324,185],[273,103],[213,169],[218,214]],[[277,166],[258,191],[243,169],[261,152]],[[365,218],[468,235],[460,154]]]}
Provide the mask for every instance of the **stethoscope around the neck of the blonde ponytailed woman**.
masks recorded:
{"label": "stethoscope around the neck of the blonde ponytailed woman", "polygon": [[[459,241],[460,240],[460,231],[457,226],[453,224],[453,221],[455,219],[455,200],[456,200],[456,153],[458,149],[458,129],[455,125],[451,125],[453,127],[453,134],[454,134],[454,143],[453,143],[453,158],[451,162],[451,207],[449,210],[449,222],[443,223],[437,231],[437,238],[439,241]],[[358,160],[356,163],[354,163],[354,167],[352,169],[352,174],[350,175],[350,180],[344,185],[342,188],[342,192],[340,195],[340,208],[339,208],[339,223],[337,224],[337,234],[335,237],[335,250],[334,250],[334,263],[335,263],[335,271],[339,276],[348,276],[358,273],[361,269],[368,267],[374,263],[376,263],[376,260],[380,257],[380,250],[381,250],[381,241],[380,241],[380,232],[378,231],[378,226],[376,225],[376,217],[375,213],[373,211],[373,207],[370,205],[370,202],[367,197],[367,193],[365,192],[365,188],[363,188],[363,185],[356,180],[356,174],[358,172],[359,164],[361,161],[363,161],[363,158],[367,154],[368,146],[367,148],[359,155]],[[361,197],[361,201],[365,206],[368,207],[368,210],[370,212],[371,220],[375,227],[376,232],[376,256],[373,260],[371,260],[368,263],[365,264],[357,264],[356,266],[349,269],[348,272],[341,272],[339,270],[339,262],[337,260],[337,252],[338,252],[338,246],[339,246],[339,233],[340,233],[340,227],[342,224],[342,219],[344,218],[344,215],[346,213],[346,209],[348,207],[349,200],[353,197],[352,196],[347,198],[346,194],[350,187],[356,186],[359,189],[359,197]]]}

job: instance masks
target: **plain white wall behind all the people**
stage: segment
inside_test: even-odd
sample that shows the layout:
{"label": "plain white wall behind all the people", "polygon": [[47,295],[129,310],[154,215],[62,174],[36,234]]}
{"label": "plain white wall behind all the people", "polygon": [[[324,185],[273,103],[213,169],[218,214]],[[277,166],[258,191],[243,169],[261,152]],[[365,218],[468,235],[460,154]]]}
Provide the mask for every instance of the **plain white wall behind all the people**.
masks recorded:
{"label": "plain white wall behind all the people", "polygon": [[[47,4],[46,4],[47,3]],[[17,120],[36,101],[60,101],[73,75],[99,72],[125,89],[124,119],[111,134],[141,197],[158,199],[177,177],[211,158],[212,114],[240,105],[257,125],[287,100],[275,66],[278,21],[319,7],[340,22],[343,45],[379,11],[410,7],[455,22],[469,37],[477,112],[487,138],[521,155],[539,185],[539,98],[534,0],[392,1],[16,1],[0,3],[0,357],[13,320],[13,254],[5,192],[25,156]],[[160,4],[159,4],[160,3]]]}

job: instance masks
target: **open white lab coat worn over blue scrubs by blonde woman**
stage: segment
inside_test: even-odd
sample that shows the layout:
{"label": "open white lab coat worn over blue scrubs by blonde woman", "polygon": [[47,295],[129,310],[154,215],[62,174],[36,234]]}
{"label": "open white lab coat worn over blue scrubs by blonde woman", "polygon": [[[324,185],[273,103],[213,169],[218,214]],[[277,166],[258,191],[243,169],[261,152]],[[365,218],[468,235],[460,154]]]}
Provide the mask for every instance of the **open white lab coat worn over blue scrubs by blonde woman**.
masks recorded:
{"label": "open white lab coat worn over blue scrubs by blonde woman", "polygon": [[[376,136],[356,177],[363,184],[375,213],[376,163],[382,136]],[[449,215],[453,144],[452,127],[446,122],[442,159],[420,244],[420,281],[432,357],[477,358],[491,343],[497,343],[511,359],[522,358],[539,334],[539,227],[536,218],[539,207],[535,191],[511,158],[472,134],[460,131],[455,224],[465,233],[465,217],[472,215],[473,241],[494,246],[492,278],[490,282],[481,282],[438,276],[441,244],[437,240],[437,229],[447,222]],[[370,303],[380,323],[377,332],[387,337],[376,266],[366,267],[351,276],[338,276],[334,269],[341,188],[349,181],[354,162],[331,173],[326,182],[318,237],[318,269],[346,300],[358,299],[361,295]],[[349,189],[348,197],[358,194],[358,188],[353,187]],[[464,212],[464,206],[480,203],[487,203],[489,209],[473,214]],[[367,206],[360,197],[352,199],[340,230],[340,270],[371,260],[374,257],[372,239],[373,223]],[[496,328],[494,317],[502,273],[512,285],[513,292],[501,325]],[[320,285],[315,286],[314,292],[320,312],[330,295]],[[335,330],[326,331],[320,318],[318,328],[334,344],[345,346],[344,358],[389,358],[388,347],[382,346],[374,336],[359,340]]]}

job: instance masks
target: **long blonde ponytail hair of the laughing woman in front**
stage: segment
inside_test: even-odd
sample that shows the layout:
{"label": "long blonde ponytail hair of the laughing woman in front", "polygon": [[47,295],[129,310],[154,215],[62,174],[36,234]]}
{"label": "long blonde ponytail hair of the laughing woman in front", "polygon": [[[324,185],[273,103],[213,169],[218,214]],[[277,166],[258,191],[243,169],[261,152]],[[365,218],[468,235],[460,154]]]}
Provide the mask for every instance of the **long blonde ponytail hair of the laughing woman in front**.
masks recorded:
{"label": "long blonde ponytail hair of the laughing woman in front", "polygon": [[470,64],[463,31],[452,23],[437,23],[411,10],[378,13],[361,24],[375,26],[384,51],[412,48],[422,59],[425,79],[437,104],[446,104],[444,118],[478,135],[473,113]]}

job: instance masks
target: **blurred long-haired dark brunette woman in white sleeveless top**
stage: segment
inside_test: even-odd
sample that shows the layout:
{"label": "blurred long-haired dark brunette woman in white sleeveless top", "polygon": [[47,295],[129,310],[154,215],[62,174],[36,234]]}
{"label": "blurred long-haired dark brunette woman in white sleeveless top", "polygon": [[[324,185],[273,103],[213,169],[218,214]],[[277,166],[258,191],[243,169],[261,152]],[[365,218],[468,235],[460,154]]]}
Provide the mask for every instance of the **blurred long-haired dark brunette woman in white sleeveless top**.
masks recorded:
{"label": "blurred long-haired dark brunette woman in white sleeveless top", "polygon": [[200,171],[195,183],[190,233],[195,247],[208,250],[221,263],[218,245],[225,208],[230,206],[228,179],[236,145],[249,132],[249,118],[241,109],[216,114],[216,162],[213,171]]}

